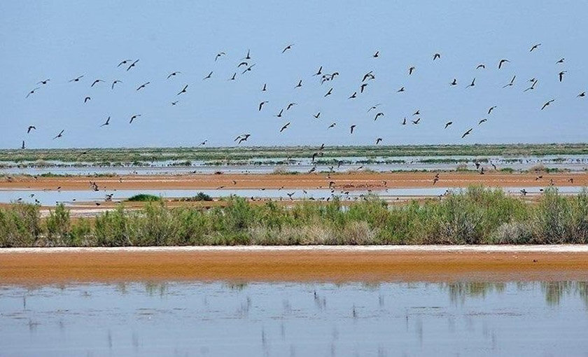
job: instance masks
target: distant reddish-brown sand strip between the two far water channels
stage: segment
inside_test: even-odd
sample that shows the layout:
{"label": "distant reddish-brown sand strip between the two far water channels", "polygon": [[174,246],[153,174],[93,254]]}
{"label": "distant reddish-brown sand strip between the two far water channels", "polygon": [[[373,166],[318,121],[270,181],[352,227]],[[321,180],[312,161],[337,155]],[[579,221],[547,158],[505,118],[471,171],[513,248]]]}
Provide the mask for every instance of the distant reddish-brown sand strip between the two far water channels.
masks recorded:
{"label": "distant reddish-brown sand strip between the two far water channels", "polygon": [[[0,181],[0,189],[35,190],[90,190],[90,181],[100,190],[197,190],[197,189],[312,189],[328,188],[329,183],[337,190],[365,190],[384,188],[427,188],[433,186],[433,172],[373,173],[351,172],[339,174],[193,174],[176,176],[117,176],[99,177],[39,177],[15,176],[9,181]],[[539,176],[541,176],[539,178]],[[573,179],[573,180],[570,180]],[[556,186],[588,186],[588,173],[555,174],[509,174],[503,172],[442,172],[440,187],[461,188],[472,185],[489,187],[545,187],[553,182]]]}

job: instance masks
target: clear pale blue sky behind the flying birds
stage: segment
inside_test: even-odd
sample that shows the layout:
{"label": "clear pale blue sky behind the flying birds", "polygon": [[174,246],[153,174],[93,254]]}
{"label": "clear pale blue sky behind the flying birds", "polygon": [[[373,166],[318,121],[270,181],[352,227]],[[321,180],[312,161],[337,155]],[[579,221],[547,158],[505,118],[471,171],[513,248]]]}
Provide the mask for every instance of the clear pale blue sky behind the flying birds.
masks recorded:
{"label": "clear pale blue sky behind the flying birds", "polygon": [[[587,1],[0,1],[0,148],[234,146],[244,133],[248,146],[585,142],[587,13]],[[320,66],[339,76],[321,84]]]}

